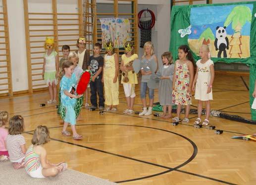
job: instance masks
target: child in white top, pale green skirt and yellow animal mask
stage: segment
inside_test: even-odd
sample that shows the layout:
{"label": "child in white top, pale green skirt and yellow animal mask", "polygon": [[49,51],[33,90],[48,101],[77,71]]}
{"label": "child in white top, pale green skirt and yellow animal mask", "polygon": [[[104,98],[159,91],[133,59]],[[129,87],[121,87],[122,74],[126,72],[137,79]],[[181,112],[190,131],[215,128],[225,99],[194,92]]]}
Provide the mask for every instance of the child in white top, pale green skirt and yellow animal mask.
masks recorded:
{"label": "child in white top, pale green skirt and yellow animal mask", "polygon": [[57,87],[58,84],[58,53],[54,51],[54,39],[46,38],[45,42],[46,52],[44,54],[43,64],[43,78],[49,87],[51,99],[47,103],[56,103]]}

